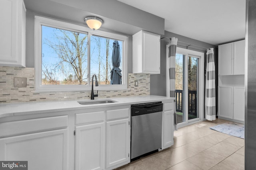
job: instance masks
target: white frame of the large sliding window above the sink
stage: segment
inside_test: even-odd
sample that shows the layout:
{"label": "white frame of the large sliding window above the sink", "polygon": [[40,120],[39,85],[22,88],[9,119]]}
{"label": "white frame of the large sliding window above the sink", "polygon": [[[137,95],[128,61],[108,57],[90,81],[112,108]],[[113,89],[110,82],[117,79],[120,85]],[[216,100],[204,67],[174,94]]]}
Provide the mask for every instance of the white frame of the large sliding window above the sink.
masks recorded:
{"label": "white frame of the large sliding window above the sink", "polygon": [[[65,29],[68,31],[76,31],[80,33],[90,35],[98,35],[101,37],[106,37],[110,39],[116,39],[123,41],[122,50],[122,82],[123,84],[111,84],[111,85],[99,85],[94,87],[95,90],[122,90],[128,88],[128,37],[124,35],[119,35],[116,33],[109,33],[106,31],[100,31],[72,23],[67,23],[64,21],[53,20],[50,18],[44,18],[40,16],[35,16],[35,91],[81,91],[81,90],[91,90],[90,83],[90,43],[88,46],[88,85],[42,85],[42,30],[41,25],[55,27],[59,29]],[[89,38],[88,38],[89,41]],[[90,78],[91,79],[91,78]]]}

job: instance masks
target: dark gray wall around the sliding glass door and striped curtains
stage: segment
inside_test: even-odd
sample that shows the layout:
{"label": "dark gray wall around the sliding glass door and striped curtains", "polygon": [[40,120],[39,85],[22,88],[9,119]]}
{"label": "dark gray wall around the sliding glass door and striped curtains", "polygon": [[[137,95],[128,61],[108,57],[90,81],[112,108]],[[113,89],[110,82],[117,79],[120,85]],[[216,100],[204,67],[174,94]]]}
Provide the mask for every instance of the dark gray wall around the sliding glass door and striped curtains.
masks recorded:
{"label": "dark gray wall around the sliding glass door and striped curtains", "polygon": [[[162,37],[176,37],[178,38],[178,41],[182,41],[185,43],[181,43],[178,42],[178,47],[181,48],[186,48],[186,46],[188,44],[192,44],[191,46],[188,47],[188,49],[190,50],[194,50],[194,51],[200,51],[200,52],[205,52],[206,49],[201,48],[201,47],[205,47],[205,48],[214,48],[214,56],[216,58],[216,63],[218,63],[218,48],[215,45],[211,45],[208,43],[204,43],[202,41],[198,41],[196,39],[191,39],[188,37],[184,37],[182,35],[178,35],[175,33],[171,33],[168,31],[164,32],[164,35]],[[161,52],[161,60],[160,60],[160,64],[161,64],[161,68],[160,68],[160,74],[151,74],[150,75],[150,94],[152,95],[158,95],[158,96],[166,96],[166,44],[169,43],[168,39],[162,39],[161,40],[161,48],[160,48],[160,52]],[[188,44],[186,44],[188,43]],[[200,47],[197,47],[197,46]],[[206,57],[206,55],[205,55]],[[205,58],[205,62],[206,62],[206,58]],[[216,64],[216,70],[218,70],[218,64]],[[218,73],[216,72],[216,76],[218,75]],[[216,87],[218,86],[218,77],[216,78]]]}

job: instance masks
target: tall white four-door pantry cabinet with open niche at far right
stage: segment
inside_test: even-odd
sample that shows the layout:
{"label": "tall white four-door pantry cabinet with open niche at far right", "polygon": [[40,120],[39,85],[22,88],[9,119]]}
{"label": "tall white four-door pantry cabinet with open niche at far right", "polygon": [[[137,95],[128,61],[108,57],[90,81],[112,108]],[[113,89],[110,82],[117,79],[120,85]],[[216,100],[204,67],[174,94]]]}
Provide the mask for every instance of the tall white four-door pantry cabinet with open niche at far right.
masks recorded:
{"label": "tall white four-door pantry cabinet with open niche at far right", "polygon": [[244,122],[245,40],[218,46],[218,117]]}

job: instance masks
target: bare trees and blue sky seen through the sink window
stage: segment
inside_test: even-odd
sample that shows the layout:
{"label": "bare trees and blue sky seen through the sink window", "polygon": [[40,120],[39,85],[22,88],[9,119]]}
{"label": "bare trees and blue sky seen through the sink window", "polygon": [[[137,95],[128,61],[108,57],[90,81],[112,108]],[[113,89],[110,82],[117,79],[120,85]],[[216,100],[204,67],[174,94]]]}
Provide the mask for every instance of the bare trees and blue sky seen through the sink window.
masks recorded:
{"label": "bare trees and blue sky seen through the sink window", "polygon": [[[88,34],[42,25],[41,84],[88,84],[90,77],[96,74],[99,84],[110,85],[114,41],[114,39],[90,35],[88,42]],[[119,42],[122,50],[123,43]],[[90,44],[89,67],[88,44]],[[90,76],[88,76],[88,68],[90,68]]]}

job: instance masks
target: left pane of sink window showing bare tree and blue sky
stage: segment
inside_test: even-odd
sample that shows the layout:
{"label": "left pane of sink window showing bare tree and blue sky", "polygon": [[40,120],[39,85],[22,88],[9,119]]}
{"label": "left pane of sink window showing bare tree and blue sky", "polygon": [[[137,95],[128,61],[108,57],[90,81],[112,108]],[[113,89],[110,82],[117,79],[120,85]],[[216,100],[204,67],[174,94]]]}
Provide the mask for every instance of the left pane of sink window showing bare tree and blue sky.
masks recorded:
{"label": "left pane of sink window showing bare tree and blue sky", "polygon": [[42,26],[42,84],[87,84],[87,37]]}

